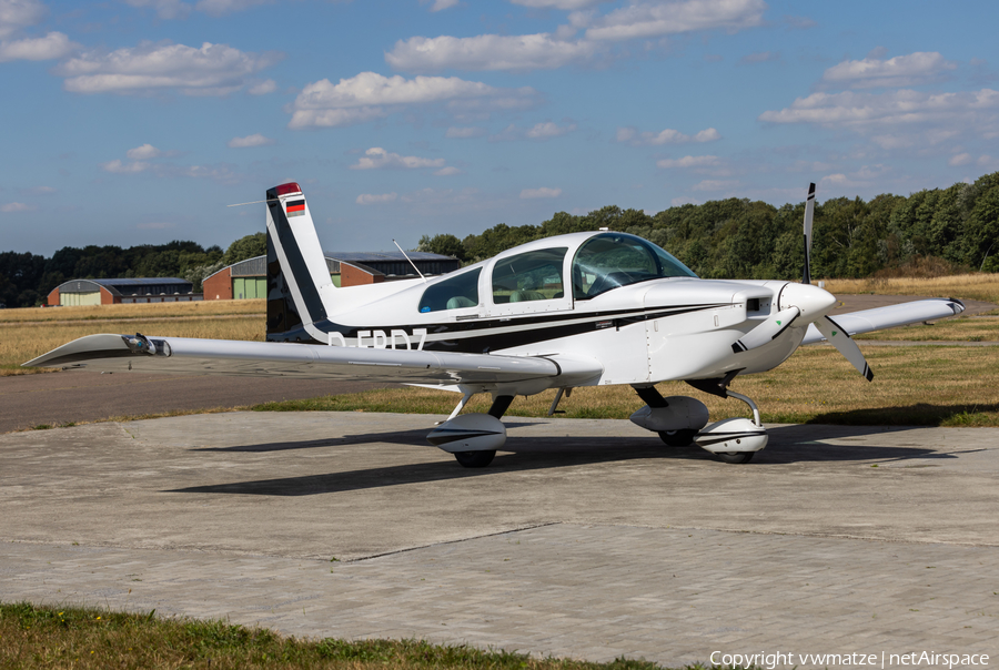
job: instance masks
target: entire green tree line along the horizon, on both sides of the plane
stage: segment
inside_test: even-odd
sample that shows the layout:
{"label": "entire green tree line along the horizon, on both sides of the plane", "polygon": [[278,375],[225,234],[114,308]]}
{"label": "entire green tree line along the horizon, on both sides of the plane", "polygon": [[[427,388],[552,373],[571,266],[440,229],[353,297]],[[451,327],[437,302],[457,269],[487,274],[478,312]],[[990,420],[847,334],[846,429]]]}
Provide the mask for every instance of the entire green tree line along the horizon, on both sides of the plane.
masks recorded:
{"label": "entire green tree line along the horizon, on both sides of the plane", "polygon": [[[658,244],[705,278],[788,280],[801,274],[804,215],[804,202],[775,207],[737,197],[657,214],[606,206],[583,215],[557,212],[538,225],[501,223],[464,240],[424,235],[417,248],[474,263],[532,240],[607,227]],[[816,204],[814,236],[816,278],[904,271],[927,258],[950,272],[999,272],[999,172],[908,197],[827,200]],[[42,304],[52,288],[75,278],[176,276],[201,291],[210,274],[264,253],[264,233],[241,237],[225,252],[182,241],[129,248],[65,246],[51,258],[6,252],[0,253],[0,303]]]}

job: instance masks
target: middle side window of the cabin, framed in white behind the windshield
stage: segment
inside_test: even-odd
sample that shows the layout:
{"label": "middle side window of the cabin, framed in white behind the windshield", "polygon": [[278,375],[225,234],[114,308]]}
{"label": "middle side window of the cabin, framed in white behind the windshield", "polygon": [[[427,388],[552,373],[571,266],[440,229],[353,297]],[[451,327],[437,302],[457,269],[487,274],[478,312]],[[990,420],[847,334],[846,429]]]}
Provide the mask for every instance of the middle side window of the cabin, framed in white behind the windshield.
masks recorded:
{"label": "middle side window of the cabin, framed in white behind the windshield", "polygon": [[493,266],[493,302],[524,303],[565,297],[562,266],[568,247],[507,256]]}

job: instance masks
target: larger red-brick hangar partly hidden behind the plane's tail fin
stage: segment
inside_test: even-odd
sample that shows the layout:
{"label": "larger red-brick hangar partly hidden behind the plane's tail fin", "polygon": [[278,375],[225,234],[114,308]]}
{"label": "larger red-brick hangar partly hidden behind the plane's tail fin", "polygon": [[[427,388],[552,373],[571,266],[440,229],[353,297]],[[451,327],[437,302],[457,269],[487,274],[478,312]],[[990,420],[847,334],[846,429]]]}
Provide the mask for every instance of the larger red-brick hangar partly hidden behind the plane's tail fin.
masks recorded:
{"label": "larger red-brick hangar partly hidden behind the plane's tail fin", "polygon": [[[425,276],[453,272],[457,258],[425,252],[406,252]],[[417,276],[413,265],[398,252],[324,252],[334,286],[379,284]],[[268,257],[255,256],[223,267],[202,282],[204,300],[231,301],[268,296]]]}

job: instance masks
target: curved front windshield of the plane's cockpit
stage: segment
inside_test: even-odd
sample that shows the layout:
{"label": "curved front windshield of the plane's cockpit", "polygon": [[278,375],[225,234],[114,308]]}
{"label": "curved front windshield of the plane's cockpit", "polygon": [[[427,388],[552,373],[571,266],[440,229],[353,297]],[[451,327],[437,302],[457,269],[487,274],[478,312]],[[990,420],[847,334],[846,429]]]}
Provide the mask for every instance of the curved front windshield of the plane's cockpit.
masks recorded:
{"label": "curved front windshield of the plane's cockpit", "polygon": [[573,297],[585,301],[648,280],[696,276],[652,242],[626,233],[604,233],[591,237],[573,258]]}

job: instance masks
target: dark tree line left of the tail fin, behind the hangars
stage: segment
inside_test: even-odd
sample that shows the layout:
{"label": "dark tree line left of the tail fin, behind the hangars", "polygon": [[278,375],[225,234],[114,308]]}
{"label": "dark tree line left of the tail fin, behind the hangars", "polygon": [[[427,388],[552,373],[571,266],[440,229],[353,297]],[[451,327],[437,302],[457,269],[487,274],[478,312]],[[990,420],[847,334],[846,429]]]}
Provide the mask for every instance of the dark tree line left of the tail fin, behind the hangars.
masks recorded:
{"label": "dark tree line left of the tail fin, behind the hangars", "polygon": [[268,253],[268,236],[240,237],[226,251],[196,242],[120,246],[63,246],[52,257],[32,253],[0,253],[0,304],[33,307],[68,280],[118,277],[183,277],[201,291],[201,282],[226,265]]}

